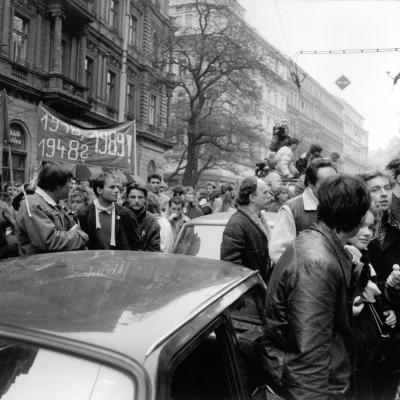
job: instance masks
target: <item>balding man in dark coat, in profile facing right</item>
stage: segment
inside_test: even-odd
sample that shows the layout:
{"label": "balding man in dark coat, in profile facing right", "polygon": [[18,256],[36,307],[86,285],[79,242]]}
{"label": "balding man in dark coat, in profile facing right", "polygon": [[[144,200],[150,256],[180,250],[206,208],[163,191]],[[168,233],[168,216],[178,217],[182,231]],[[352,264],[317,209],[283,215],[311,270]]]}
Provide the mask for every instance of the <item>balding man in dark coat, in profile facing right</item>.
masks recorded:
{"label": "balding man in dark coat, in profile facing right", "polygon": [[237,197],[238,211],[229,219],[221,243],[221,260],[258,269],[267,281],[269,228],[261,210],[272,201],[267,184],[255,176],[245,178]]}

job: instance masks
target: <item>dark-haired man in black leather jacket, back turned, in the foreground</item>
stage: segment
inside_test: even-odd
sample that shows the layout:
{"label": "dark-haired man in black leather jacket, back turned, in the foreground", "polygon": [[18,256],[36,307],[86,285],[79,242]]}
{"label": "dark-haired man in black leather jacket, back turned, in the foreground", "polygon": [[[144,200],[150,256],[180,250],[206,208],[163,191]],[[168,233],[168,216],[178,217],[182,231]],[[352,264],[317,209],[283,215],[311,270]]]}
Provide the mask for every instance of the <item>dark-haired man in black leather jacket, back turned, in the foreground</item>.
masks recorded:
{"label": "dark-haired man in black leather jacket, back turned, in the foreground", "polygon": [[360,179],[335,175],[318,198],[318,222],[282,254],[265,301],[264,367],[285,399],[344,399],[350,386],[354,280],[344,245],[370,196]]}

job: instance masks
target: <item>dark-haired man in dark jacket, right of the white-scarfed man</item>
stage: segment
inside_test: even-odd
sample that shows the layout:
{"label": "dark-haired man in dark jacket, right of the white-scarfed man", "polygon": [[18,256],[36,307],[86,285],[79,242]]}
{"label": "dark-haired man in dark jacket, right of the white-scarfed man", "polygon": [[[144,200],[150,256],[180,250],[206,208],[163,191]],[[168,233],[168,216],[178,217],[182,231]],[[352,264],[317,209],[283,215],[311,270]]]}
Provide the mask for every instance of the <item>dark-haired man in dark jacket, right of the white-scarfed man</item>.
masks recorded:
{"label": "dark-haired man in dark jacket, right of the white-scarfed man", "polygon": [[138,183],[128,185],[126,198],[129,209],[133,212],[138,223],[140,249],[143,251],[161,251],[160,225],[156,217],[146,209],[147,189]]}

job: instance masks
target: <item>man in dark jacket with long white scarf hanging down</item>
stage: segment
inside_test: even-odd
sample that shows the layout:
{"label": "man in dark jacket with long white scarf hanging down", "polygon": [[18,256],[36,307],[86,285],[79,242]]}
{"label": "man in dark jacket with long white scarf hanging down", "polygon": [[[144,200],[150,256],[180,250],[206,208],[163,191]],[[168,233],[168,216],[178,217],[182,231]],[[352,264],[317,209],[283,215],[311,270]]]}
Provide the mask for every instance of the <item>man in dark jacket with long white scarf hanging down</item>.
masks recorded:
{"label": "man in dark jacket with long white scarf hanging down", "polygon": [[119,188],[110,173],[93,181],[96,199],[78,214],[81,228],[89,235],[90,250],[140,250],[137,222],[131,211],[116,204]]}

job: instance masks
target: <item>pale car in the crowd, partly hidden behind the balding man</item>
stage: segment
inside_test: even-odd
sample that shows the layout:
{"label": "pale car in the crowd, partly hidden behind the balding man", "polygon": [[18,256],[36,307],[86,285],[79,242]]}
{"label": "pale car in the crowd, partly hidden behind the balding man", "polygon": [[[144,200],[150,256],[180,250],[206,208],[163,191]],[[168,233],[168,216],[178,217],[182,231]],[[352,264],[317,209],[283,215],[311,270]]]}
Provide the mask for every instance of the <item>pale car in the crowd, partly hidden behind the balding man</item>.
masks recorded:
{"label": "pale car in the crowd, partly hidden behind the balding man", "polygon": [[[222,234],[232,214],[209,214],[187,222],[176,239],[173,253],[219,260]],[[273,229],[276,213],[264,212],[264,216]]]}

